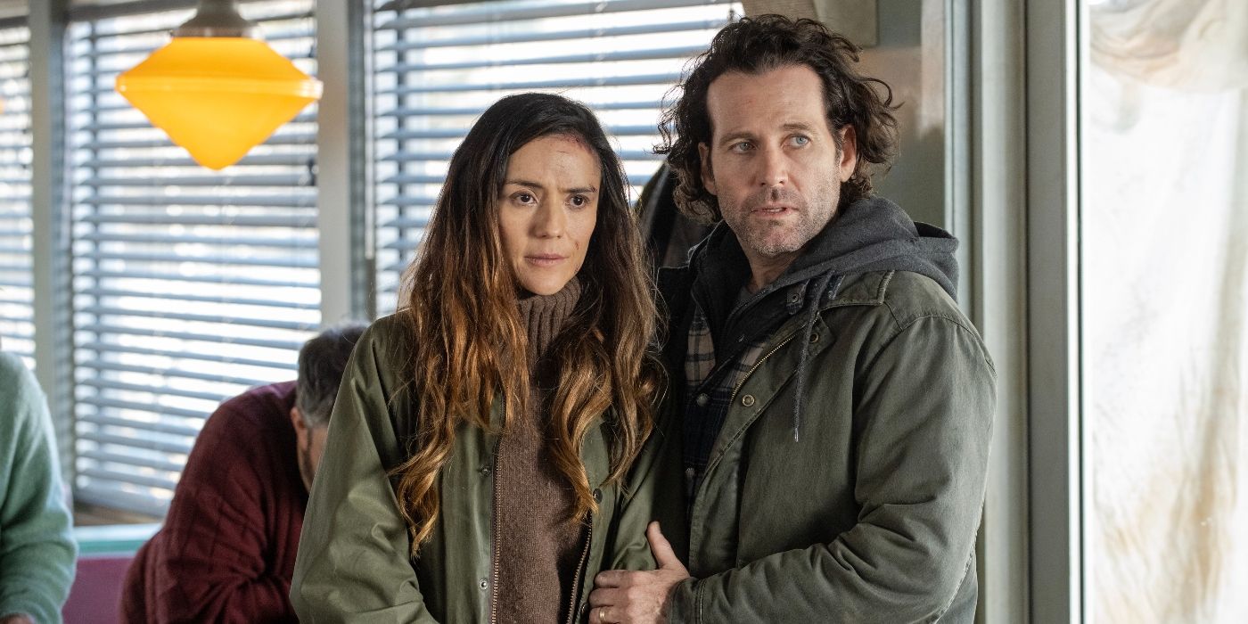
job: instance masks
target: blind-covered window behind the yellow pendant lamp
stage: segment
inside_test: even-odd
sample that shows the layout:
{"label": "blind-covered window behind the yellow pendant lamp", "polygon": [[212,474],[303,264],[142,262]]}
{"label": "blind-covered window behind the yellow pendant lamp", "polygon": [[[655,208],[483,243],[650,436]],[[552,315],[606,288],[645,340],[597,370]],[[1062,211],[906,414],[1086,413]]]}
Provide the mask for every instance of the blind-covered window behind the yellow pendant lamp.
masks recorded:
{"label": "blind-covered window behind the yellow pendant lamp", "polygon": [[[312,0],[245,2],[314,72]],[[321,321],[316,110],[221,172],[195,165],[114,91],[191,10],[71,12],[75,495],[162,515],[205,418],[295,378]]]}

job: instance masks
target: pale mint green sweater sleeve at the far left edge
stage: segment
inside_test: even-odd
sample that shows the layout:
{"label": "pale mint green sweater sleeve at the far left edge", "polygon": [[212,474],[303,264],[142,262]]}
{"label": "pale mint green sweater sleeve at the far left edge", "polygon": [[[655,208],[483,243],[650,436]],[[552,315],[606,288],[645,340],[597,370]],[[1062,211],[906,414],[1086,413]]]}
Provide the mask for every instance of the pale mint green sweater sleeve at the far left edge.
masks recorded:
{"label": "pale mint green sweater sleeve at the far left edge", "polygon": [[34,376],[0,353],[0,617],[61,622],[77,547],[52,421]]}

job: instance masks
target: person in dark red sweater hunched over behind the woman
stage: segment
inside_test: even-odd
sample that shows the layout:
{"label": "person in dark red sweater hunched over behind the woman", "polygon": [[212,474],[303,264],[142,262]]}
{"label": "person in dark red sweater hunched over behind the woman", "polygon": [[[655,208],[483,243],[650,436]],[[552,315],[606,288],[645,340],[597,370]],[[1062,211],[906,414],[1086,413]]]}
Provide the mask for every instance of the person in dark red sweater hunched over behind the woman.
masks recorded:
{"label": "person in dark red sweater hunched over behind the woman", "polygon": [[287,594],[333,399],[363,324],[300,349],[298,379],[247,391],[208,418],[165,527],[126,574],[124,622],[297,622]]}

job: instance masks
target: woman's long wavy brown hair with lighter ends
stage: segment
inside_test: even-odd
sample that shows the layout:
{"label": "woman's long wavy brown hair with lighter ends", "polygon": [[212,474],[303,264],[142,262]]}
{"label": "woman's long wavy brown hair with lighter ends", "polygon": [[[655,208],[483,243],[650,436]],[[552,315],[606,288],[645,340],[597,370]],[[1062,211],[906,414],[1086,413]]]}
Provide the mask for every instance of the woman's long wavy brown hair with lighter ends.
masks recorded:
{"label": "woman's long wavy brown hair with lighter ends", "polygon": [[650,344],[654,288],[644,265],[624,170],[587,107],[565,97],[503,97],[473,125],[451,158],[424,242],[403,276],[399,316],[409,328],[407,386],[418,406],[408,458],[394,467],[412,555],[429,539],[441,500],[438,472],[462,424],[492,431],[495,396],[503,431],[529,396],[519,286],[503,253],[498,200],[508,160],[535,139],[568,136],[598,157],[598,221],[578,277],[582,295],[545,352],[558,371],[545,423],[555,467],[575,493],[569,522],[598,510],[580,461],[587,433],[610,412],[609,483],[620,482],[653,429],[661,372]]}

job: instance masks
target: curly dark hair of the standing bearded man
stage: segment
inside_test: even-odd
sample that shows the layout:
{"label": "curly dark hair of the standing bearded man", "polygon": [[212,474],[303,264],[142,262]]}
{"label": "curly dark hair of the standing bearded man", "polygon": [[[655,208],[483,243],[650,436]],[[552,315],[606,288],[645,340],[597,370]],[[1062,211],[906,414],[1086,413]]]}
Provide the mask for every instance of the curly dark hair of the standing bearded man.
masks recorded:
{"label": "curly dark hair of the standing bearded man", "polygon": [[827,127],[836,140],[837,152],[842,149],[841,129],[854,126],[857,165],[854,175],[841,183],[840,206],[870,197],[875,167],[886,167],[896,155],[897,120],[892,111],[897,105],[892,104],[892,89],[887,84],[854,69],[859,51],[849,39],[809,19],[759,15],[724,26],[711,40],[710,49],[691,61],[684,82],[674,89],[683,95],[663,112],[659,122],[663,144],[655,146],[655,152],[668,155],[668,162],[680,177],[676,205],[704,223],[723,218],[715,196],[703,186],[698,154],[698,144],[711,142],[706,111],[710,84],[730,71],[758,75],[791,65],[810,67],[824,82]]}

